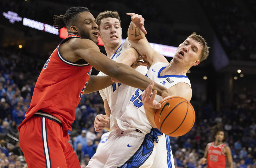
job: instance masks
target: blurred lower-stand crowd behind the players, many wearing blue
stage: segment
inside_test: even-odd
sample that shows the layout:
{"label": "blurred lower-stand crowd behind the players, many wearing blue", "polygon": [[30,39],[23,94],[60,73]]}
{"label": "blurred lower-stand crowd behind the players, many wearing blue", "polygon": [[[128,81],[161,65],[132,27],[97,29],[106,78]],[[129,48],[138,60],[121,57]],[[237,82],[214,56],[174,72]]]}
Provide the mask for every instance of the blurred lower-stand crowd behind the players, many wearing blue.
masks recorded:
{"label": "blurred lower-stand crowd behind the players, many wearing blue", "polygon": [[[15,47],[0,49],[0,168],[26,167],[25,158],[17,141],[18,125],[29,108],[36,79],[44,62]],[[26,59],[28,58],[28,59]],[[32,64],[33,63],[33,64]],[[41,67],[41,68],[40,68]],[[24,70],[25,69],[25,70]],[[235,168],[256,166],[256,91],[235,92],[230,108],[215,111],[206,104],[189,133],[170,137],[176,167],[200,168],[207,143],[213,141],[211,127],[223,123],[229,135]],[[75,109],[75,121],[69,132],[70,144],[85,167],[96,151],[103,132],[94,131],[94,118],[105,114],[98,92],[83,95]],[[11,166],[10,166],[11,165]],[[21,166],[22,165],[22,166]],[[14,167],[15,167],[14,166]]]}

